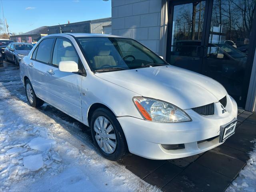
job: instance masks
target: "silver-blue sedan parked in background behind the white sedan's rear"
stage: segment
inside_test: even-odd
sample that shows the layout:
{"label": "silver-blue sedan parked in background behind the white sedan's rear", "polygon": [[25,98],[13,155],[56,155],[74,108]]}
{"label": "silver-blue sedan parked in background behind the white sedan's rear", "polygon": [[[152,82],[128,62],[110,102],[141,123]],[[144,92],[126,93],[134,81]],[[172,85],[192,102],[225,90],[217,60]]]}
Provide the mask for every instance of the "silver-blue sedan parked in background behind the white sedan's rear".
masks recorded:
{"label": "silver-blue sedan parked in background behind the white sedan's rear", "polygon": [[32,48],[33,46],[30,43],[10,43],[4,50],[5,60],[19,65],[20,60],[28,55]]}

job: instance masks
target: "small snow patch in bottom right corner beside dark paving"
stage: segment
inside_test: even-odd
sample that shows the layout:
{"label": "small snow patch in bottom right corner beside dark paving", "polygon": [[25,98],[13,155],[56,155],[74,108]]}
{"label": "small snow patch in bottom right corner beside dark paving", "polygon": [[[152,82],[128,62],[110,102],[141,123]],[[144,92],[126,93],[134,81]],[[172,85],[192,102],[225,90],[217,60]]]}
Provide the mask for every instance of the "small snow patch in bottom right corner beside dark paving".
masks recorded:
{"label": "small snow patch in bottom right corner beside dark paving", "polygon": [[254,150],[249,153],[250,159],[226,192],[256,192],[256,140],[252,142]]}

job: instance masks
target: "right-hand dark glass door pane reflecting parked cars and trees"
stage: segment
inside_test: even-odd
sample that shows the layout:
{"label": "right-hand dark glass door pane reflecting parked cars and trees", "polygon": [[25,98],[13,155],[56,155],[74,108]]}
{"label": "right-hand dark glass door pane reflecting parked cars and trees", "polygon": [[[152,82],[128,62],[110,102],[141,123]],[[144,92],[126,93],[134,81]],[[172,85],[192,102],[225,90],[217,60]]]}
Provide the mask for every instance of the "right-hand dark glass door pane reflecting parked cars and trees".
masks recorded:
{"label": "right-hand dark glass door pane reflecting parked cars and trees", "polygon": [[204,62],[207,76],[224,85],[241,105],[254,0],[214,0]]}

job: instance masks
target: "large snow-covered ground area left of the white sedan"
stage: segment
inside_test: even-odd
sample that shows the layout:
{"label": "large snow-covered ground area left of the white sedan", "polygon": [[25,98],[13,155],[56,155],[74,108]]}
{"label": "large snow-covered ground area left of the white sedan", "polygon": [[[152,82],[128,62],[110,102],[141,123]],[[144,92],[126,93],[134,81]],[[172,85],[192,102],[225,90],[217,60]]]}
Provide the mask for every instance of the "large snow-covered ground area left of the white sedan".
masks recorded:
{"label": "large snow-covered ground area left of the white sedan", "polygon": [[102,158],[76,125],[28,106],[21,88],[0,83],[0,192],[160,191]]}

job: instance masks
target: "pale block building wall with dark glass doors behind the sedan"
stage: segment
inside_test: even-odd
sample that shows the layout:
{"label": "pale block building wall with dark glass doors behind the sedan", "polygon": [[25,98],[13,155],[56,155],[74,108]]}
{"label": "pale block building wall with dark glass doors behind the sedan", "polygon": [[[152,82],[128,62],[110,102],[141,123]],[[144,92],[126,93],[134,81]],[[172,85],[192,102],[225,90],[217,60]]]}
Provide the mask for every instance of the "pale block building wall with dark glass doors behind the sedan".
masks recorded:
{"label": "pale block building wall with dark glass doors behind the sedan", "polygon": [[220,82],[256,109],[254,0],[112,0],[112,34]]}

